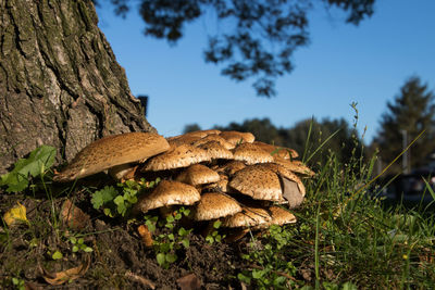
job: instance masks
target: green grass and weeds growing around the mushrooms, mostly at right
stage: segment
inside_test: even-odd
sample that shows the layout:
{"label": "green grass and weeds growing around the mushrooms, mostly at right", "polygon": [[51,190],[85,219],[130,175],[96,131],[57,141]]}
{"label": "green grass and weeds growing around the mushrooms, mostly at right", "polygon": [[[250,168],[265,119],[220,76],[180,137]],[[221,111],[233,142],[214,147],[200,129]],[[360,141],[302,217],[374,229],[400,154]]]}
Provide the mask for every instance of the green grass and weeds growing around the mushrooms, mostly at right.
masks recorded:
{"label": "green grass and weeds growing around the mushrooms, mostly at right", "polygon": [[[382,200],[375,198],[376,188],[366,187],[373,180],[373,159],[364,161],[362,156],[352,156],[349,163],[343,164],[334,152],[330,152],[325,162],[319,164],[316,176],[306,180],[307,199],[301,209],[294,211],[298,223],[284,227],[272,226],[260,236],[251,232],[247,247],[240,250],[244,265],[237,269],[238,274],[233,279],[251,285],[254,289],[434,288],[435,217],[421,204],[411,210],[400,204],[385,207]],[[47,239],[58,242],[57,249],[62,249],[64,253],[65,249],[73,245],[83,249],[88,247],[86,241],[80,240],[78,244],[72,243],[71,238],[62,238],[77,236],[74,232],[65,236],[65,230],[61,229],[57,197],[52,194],[51,185],[47,181],[49,175],[42,176],[46,181],[39,190],[47,192],[44,203],[51,219],[34,219],[28,228],[21,231],[10,230],[3,223],[0,232],[2,251],[8,251],[17,239],[33,241],[26,245],[28,253],[42,249],[45,245],[38,244],[38,241]],[[428,193],[435,197],[427,182],[426,186]],[[100,215],[103,215],[102,212]],[[175,226],[173,228],[179,229]],[[171,234],[165,235],[169,237]],[[161,244],[177,242],[170,240]],[[98,255],[99,247],[94,247],[96,251],[92,254]],[[162,253],[161,249],[159,251]],[[178,260],[183,259],[178,256]],[[175,263],[170,262],[160,264],[167,267]],[[3,263],[5,273],[0,286],[21,288],[25,264],[16,261]],[[104,265],[89,273],[97,276],[103,273],[101,275],[107,276],[108,267]],[[104,286],[104,281],[111,286],[125,286],[113,279],[101,277],[99,286]]]}

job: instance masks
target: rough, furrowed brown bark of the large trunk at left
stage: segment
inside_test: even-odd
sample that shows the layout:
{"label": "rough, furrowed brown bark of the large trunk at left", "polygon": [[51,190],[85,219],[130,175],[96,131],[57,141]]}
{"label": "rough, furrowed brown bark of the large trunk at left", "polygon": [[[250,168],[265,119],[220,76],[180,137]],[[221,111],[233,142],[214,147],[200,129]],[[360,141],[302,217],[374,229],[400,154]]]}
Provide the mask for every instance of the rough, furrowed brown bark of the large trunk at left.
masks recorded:
{"label": "rough, furrowed brown bark of the large trunk at left", "polygon": [[156,131],[90,0],[0,0],[0,174],[40,144],[58,161],[103,136]]}

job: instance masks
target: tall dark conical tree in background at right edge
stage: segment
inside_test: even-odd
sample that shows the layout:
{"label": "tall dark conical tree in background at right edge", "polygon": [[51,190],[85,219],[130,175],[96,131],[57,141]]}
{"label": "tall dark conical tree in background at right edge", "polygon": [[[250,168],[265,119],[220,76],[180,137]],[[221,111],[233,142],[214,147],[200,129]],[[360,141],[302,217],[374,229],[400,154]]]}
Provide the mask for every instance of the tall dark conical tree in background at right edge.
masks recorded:
{"label": "tall dark conical tree in background at right edge", "polygon": [[[434,98],[434,93],[427,90],[427,85],[413,76],[400,88],[395,100],[387,102],[387,112],[382,115],[381,129],[374,139],[384,162],[389,163],[400,154],[405,134],[408,142],[411,142],[422,130],[426,130],[408,152],[411,156],[411,168],[425,165],[427,155],[435,150]],[[391,167],[391,172],[401,172],[401,162],[400,159]]]}

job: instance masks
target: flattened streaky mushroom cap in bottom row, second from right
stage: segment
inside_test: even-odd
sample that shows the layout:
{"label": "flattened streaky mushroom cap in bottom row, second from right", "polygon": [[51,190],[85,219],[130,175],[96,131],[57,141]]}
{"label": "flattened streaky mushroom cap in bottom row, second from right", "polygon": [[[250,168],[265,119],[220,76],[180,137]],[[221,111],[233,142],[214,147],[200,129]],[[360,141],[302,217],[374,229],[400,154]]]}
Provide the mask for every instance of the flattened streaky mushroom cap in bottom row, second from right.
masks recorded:
{"label": "flattened streaky mushroom cap in bottom row, second from right", "polygon": [[254,227],[272,220],[268,211],[260,206],[243,206],[241,212],[225,217],[222,227]]}

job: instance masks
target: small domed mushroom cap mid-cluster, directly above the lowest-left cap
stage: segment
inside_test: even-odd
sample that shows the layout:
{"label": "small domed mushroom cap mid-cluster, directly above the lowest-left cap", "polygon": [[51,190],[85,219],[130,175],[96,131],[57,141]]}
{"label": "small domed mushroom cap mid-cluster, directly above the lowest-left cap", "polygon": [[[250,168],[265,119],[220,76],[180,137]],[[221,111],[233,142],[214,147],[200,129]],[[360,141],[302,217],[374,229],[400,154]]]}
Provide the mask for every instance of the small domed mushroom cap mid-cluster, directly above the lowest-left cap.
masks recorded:
{"label": "small domed mushroom cap mid-cluster, directly above the lowest-left cap", "polygon": [[194,164],[183,171],[175,180],[190,186],[199,186],[217,182],[220,179],[221,177],[215,171],[202,164]]}

